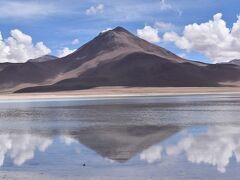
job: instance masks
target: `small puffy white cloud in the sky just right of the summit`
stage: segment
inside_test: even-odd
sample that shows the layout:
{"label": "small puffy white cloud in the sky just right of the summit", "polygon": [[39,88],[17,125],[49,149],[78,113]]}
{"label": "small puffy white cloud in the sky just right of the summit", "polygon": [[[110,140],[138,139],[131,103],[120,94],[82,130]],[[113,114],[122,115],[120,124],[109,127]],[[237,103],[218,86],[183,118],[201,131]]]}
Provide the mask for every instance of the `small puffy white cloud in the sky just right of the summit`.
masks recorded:
{"label": "small puffy white cloud in the sky just right of the summit", "polygon": [[160,37],[158,36],[158,30],[151,26],[145,26],[143,29],[138,29],[137,35],[140,38],[145,39],[146,41],[149,41],[151,43],[160,42]]}

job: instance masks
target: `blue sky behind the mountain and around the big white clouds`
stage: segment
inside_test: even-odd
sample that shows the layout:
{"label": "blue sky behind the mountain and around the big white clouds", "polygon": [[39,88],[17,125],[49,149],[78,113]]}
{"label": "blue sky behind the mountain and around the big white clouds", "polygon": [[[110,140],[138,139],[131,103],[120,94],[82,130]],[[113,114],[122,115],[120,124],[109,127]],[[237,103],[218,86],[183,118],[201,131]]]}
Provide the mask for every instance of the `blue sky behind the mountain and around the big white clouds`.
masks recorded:
{"label": "blue sky behind the mountain and around the big white clouds", "polygon": [[[33,44],[42,41],[56,55],[65,47],[80,47],[107,28],[123,26],[137,35],[138,29],[145,26],[157,29],[156,23],[160,22],[166,28],[157,29],[161,40],[156,44],[189,59],[214,62],[221,57],[208,55],[195,46],[176,45],[176,39],[165,41],[163,35],[174,31],[181,37],[186,25],[209,22],[217,13],[222,13],[231,30],[240,13],[238,3],[237,0],[0,0],[0,32],[5,39],[11,36],[11,30],[18,29],[31,36]],[[74,39],[79,43],[73,43]],[[233,57],[237,56],[236,53]]]}

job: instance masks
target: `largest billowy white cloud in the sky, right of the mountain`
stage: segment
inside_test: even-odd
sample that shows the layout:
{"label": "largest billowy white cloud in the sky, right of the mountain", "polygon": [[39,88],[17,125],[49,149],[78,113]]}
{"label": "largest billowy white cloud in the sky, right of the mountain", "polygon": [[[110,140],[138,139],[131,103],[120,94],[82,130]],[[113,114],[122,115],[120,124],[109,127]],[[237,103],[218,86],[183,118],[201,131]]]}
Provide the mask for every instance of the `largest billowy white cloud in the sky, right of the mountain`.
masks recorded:
{"label": "largest billowy white cloud in the sky, right of the mountain", "polygon": [[228,28],[222,14],[218,13],[209,22],[185,26],[182,36],[167,32],[163,39],[181,49],[200,52],[215,63],[239,59],[240,17],[232,28]]}

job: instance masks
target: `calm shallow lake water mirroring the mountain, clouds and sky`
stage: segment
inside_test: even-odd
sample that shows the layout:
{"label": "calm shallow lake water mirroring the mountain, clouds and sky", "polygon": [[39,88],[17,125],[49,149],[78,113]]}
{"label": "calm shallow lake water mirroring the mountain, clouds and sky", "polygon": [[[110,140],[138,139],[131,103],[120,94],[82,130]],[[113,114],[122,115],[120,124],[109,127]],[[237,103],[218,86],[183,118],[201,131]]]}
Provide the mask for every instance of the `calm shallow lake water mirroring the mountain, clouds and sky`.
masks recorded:
{"label": "calm shallow lake water mirroring the mountain, clouds and sky", "polygon": [[5,178],[239,179],[239,162],[239,95],[0,102]]}

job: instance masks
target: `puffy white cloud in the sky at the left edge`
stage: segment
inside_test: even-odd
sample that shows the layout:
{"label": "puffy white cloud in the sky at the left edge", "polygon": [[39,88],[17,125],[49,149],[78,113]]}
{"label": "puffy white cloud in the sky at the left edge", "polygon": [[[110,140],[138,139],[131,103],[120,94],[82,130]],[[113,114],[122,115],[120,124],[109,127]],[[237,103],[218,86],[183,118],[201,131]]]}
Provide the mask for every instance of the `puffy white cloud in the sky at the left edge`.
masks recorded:
{"label": "puffy white cloud in the sky at the left edge", "polygon": [[43,42],[36,45],[32,37],[18,29],[11,31],[11,36],[3,39],[0,33],[0,62],[20,63],[49,54],[51,50]]}

